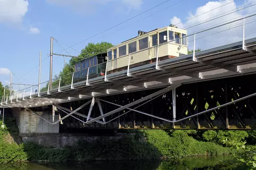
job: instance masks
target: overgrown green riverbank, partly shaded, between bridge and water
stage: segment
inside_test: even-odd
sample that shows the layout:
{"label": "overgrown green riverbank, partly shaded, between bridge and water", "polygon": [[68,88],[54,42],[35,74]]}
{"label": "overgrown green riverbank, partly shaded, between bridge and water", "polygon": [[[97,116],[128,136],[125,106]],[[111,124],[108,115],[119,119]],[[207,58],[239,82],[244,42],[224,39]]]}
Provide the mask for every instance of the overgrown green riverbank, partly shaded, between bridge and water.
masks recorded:
{"label": "overgrown green riverbank, partly shaded, between bridge and water", "polygon": [[[30,142],[17,144],[19,140],[15,120],[5,118],[5,123],[7,128],[0,130],[1,162],[168,160],[191,156],[220,156],[234,152],[220,142],[222,139],[249,139],[249,134],[245,131],[118,130],[124,136],[115,140],[100,137],[94,142],[79,141],[73,146],[54,148]],[[254,139],[252,136],[251,140]],[[6,140],[10,138],[13,140]]]}

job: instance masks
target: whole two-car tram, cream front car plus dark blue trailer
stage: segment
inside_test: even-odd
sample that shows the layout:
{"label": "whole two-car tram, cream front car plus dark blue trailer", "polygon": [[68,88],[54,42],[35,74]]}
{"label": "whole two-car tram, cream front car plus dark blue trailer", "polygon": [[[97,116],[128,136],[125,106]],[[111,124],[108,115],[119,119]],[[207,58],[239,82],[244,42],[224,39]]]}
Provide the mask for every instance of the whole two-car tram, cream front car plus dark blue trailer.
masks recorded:
{"label": "whole two-car tram, cream front car plus dark blue trailer", "polygon": [[[173,25],[149,32],[138,31],[138,36],[113,46],[74,65],[74,83],[112,72],[176,58],[188,54],[187,31]],[[130,62],[130,63],[129,63]],[[89,69],[87,69],[89,68]],[[89,71],[89,72],[88,72]]]}

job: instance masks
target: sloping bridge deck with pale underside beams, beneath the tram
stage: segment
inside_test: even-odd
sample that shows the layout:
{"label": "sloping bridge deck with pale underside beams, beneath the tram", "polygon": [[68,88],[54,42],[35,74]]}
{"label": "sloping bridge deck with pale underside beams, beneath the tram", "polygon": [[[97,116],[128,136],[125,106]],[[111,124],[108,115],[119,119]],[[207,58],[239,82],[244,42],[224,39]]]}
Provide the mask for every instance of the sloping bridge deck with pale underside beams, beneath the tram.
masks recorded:
{"label": "sloping bridge deck with pale underside beams, beneath the tram", "polygon": [[32,108],[52,103],[63,103],[93,96],[106,96],[132,91],[142,91],[170,85],[189,84],[212,79],[227,78],[256,73],[256,38],[243,42],[228,44],[210,50],[193,53],[178,58],[167,59],[156,63],[114,72],[106,76],[96,77],[71,85],[54,88],[47,92],[24,96],[21,99],[2,101],[1,108]]}

